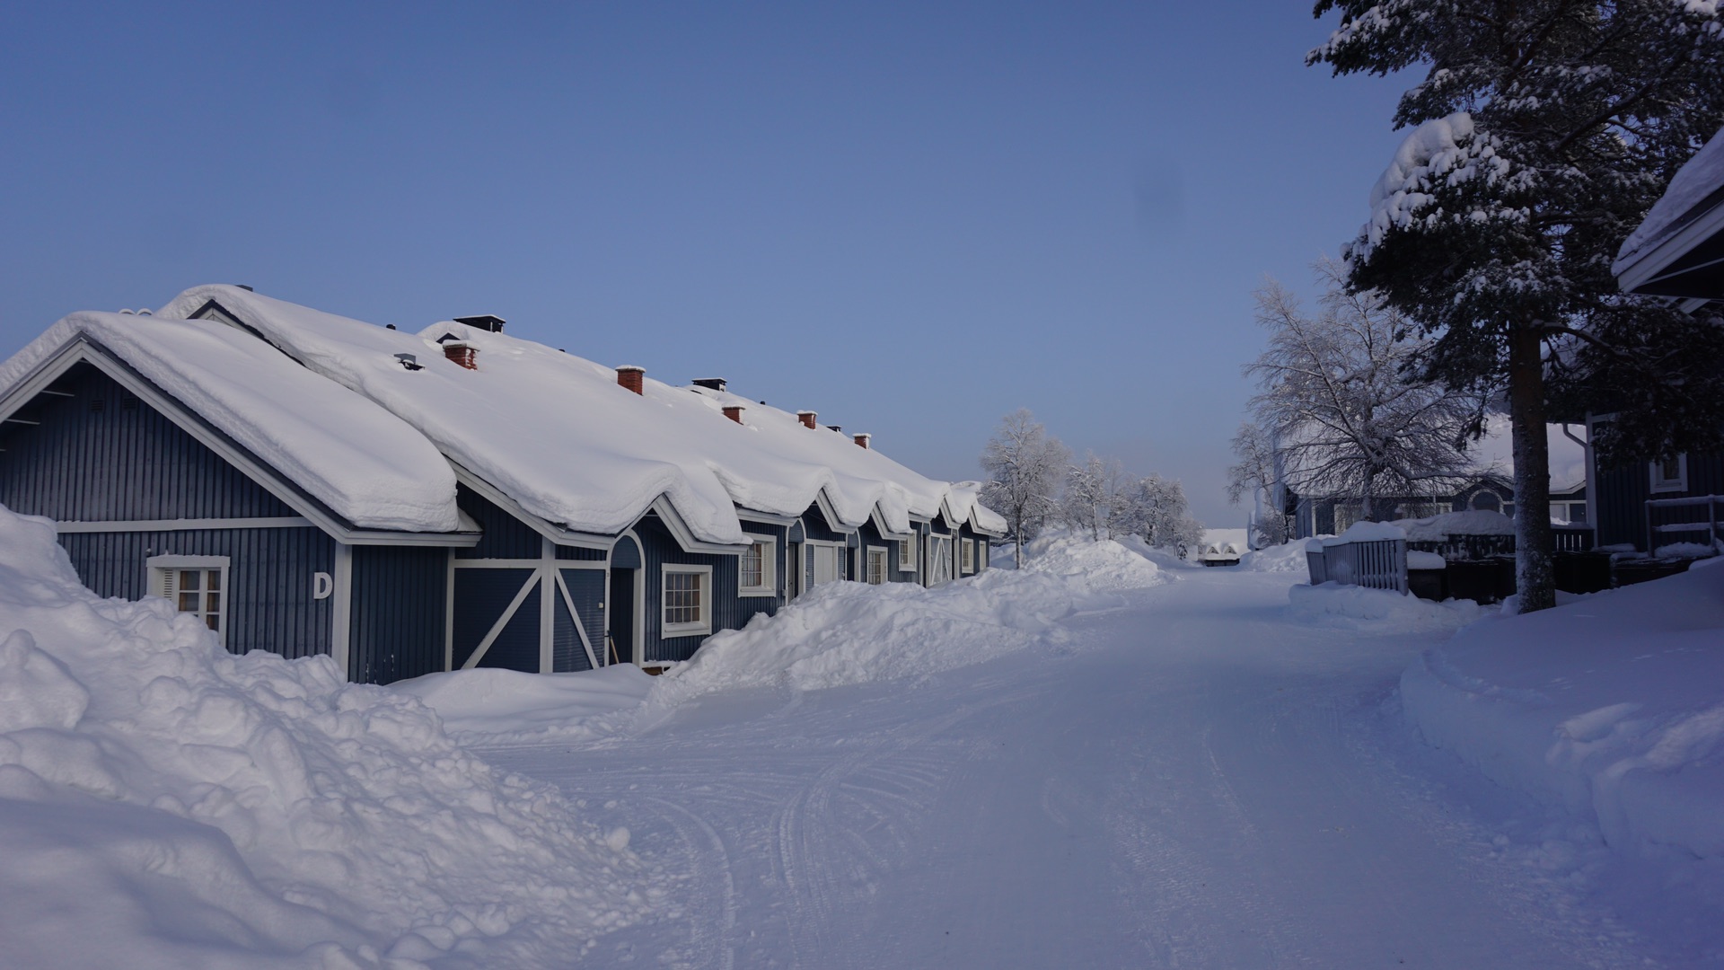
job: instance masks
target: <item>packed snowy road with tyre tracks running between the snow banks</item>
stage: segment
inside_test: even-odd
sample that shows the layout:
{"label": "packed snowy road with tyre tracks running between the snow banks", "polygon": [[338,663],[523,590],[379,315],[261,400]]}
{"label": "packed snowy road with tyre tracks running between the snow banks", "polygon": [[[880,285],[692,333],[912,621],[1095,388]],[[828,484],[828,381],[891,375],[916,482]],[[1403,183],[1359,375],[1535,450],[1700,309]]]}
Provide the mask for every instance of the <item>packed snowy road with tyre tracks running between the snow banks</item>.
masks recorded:
{"label": "packed snowy road with tyre tracks running between the snow banks", "polygon": [[1381,706],[1434,635],[1288,623],[1288,583],[1186,571],[1065,656],[484,756],[657,868],[664,915],[598,963],[1641,965],[1410,763]]}

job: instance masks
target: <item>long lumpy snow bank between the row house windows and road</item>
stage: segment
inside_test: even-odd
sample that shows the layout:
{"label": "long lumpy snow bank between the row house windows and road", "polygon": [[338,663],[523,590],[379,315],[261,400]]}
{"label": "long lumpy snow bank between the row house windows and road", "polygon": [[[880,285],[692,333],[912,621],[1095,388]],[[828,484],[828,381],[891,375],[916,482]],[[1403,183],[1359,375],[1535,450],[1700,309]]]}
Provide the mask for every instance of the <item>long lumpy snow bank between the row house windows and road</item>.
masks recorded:
{"label": "long lumpy snow bank between the row house windows and road", "polygon": [[1164,582],[1153,563],[1112,540],[1038,539],[1031,551],[1022,570],[988,570],[936,589],[815,587],[776,616],[714,633],[693,659],[659,678],[648,702],[938,673],[1059,642],[1060,618],[1122,606],[1122,592]]}

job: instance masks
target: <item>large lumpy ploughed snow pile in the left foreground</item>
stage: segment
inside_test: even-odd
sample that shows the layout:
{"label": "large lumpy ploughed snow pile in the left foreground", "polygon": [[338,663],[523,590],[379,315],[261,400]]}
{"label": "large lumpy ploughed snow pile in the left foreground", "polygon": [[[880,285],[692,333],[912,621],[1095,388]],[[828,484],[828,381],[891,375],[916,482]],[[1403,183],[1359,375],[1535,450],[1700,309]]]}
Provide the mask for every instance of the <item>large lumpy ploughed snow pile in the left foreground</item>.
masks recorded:
{"label": "large lumpy ploughed snow pile in the left foreground", "polygon": [[643,913],[624,846],[414,697],[98,599],[0,507],[7,967],[562,967]]}

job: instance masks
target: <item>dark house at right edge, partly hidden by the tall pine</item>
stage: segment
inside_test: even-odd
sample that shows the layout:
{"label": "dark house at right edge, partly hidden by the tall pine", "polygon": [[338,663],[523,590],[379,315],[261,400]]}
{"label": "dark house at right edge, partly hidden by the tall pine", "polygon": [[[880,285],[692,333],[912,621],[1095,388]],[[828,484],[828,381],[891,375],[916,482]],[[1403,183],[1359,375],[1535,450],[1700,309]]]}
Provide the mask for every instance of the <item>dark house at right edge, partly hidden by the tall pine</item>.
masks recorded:
{"label": "dark house at right edge, partly hidden by the tall pine", "polygon": [[[1724,129],[1677,169],[1622,243],[1612,273],[1627,293],[1665,297],[1684,312],[1724,311]],[[1608,414],[1588,414],[1591,431]],[[1724,539],[1724,454],[1593,468],[1598,542],[1658,549]]]}

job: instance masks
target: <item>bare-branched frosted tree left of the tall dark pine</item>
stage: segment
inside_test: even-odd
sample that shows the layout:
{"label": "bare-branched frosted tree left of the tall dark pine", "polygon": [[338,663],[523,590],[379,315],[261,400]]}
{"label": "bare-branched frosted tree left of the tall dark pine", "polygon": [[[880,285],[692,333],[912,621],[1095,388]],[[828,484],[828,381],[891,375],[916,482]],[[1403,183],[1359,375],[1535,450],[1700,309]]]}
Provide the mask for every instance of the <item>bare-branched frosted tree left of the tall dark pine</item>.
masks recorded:
{"label": "bare-branched frosted tree left of the tall dark pine", "polygon": [[1252,416],[1279,449],[1284,483],[1357,497],[1367,520],[1379,495],[1453,487],[1472,464],[1464,445],[1483,428],[1484,397],[1422,380],[1414,371],[1431,342],[1407,337],[1412,323],[1376,292],[1348,288],[1340,262],[1315,271],[1315,316],[1272,280],[1257,290],[1269,349],[1245,368],[1260,388]]}

